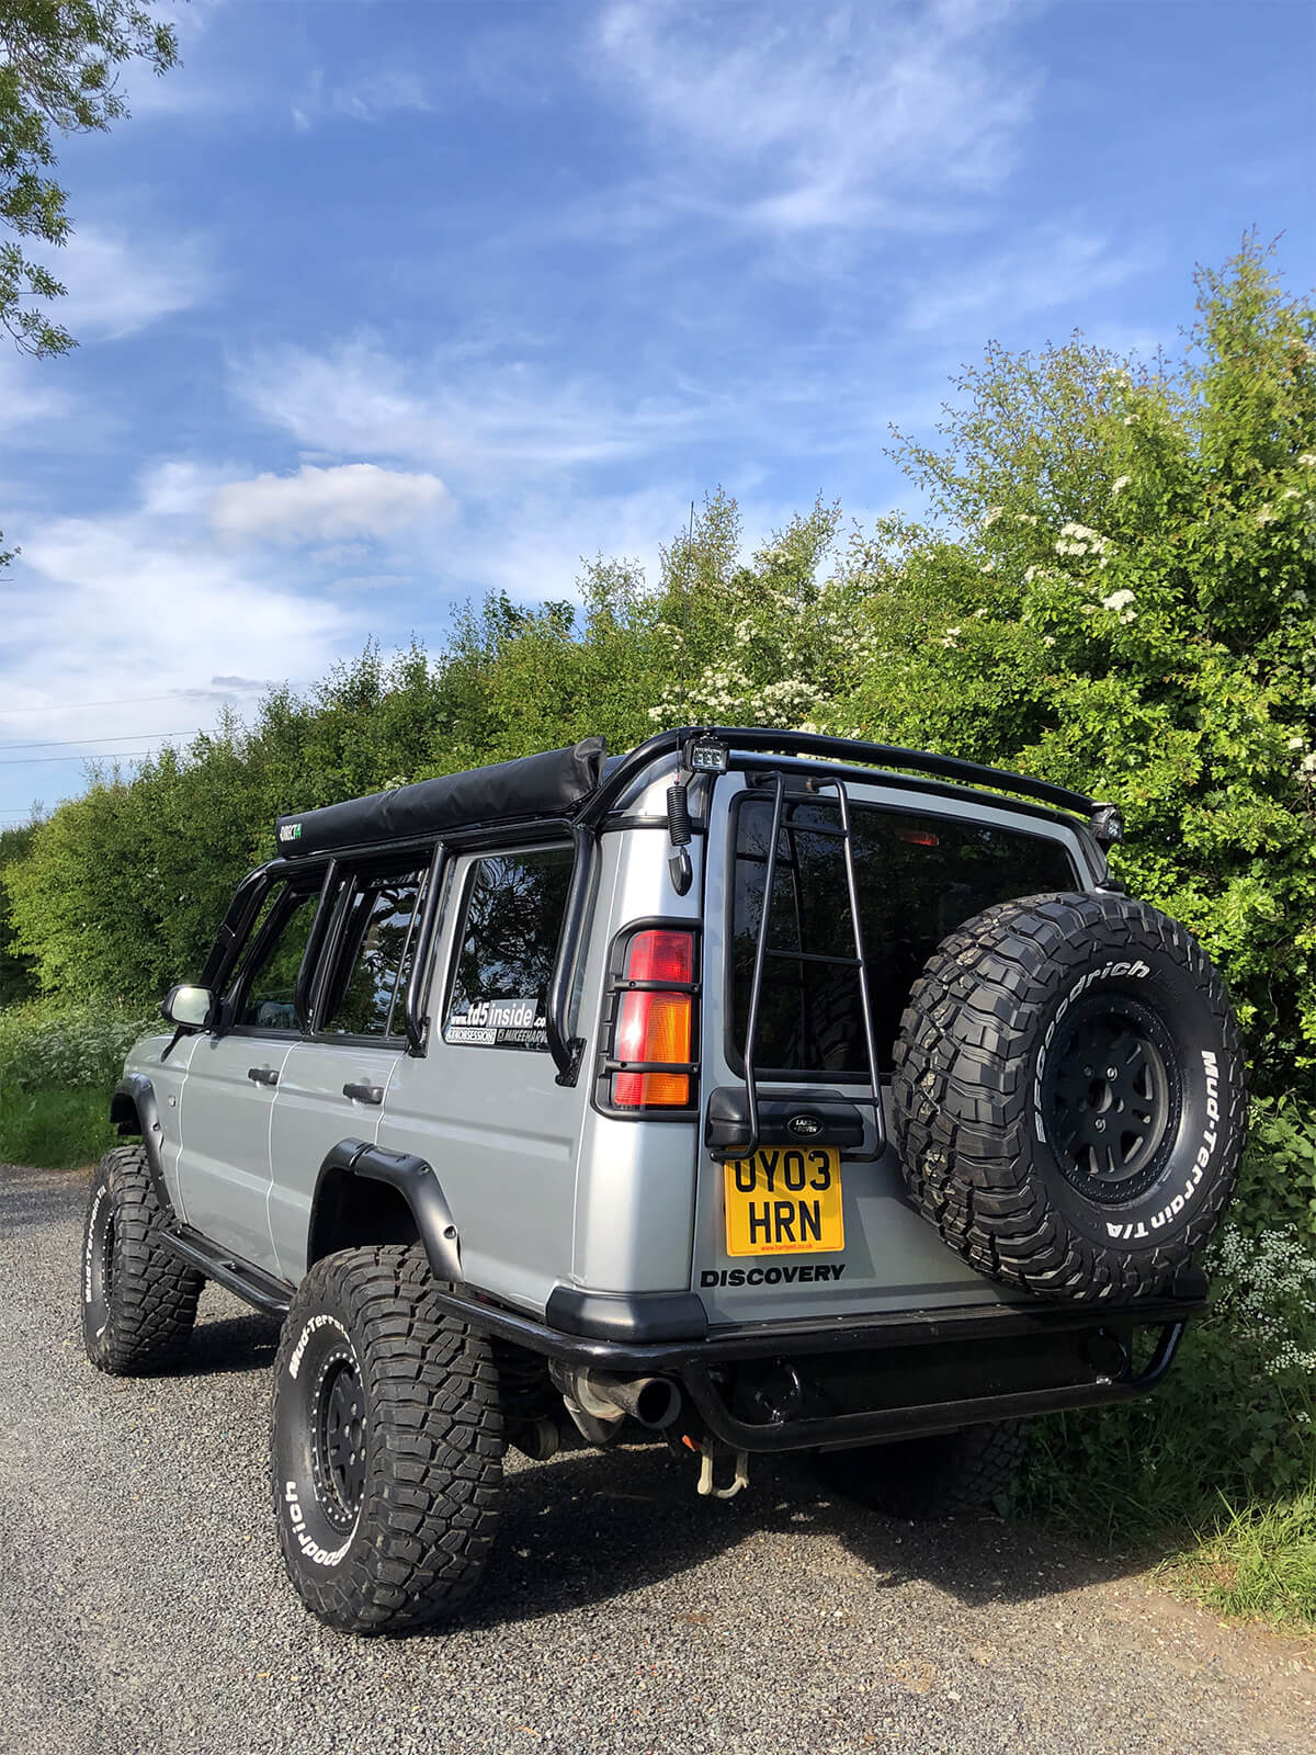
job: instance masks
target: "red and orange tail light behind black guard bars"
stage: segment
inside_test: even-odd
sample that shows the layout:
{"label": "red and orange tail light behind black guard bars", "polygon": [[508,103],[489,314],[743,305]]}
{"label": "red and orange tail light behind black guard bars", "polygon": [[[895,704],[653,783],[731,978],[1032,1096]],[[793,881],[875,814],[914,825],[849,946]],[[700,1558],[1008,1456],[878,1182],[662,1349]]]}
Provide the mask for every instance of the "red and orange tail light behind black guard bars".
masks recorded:
{"label": "red and orange tail light behind black guard bars", "polygon": [[691,1107],[695,934],[677,927],[633,932],[616,992],[612,1104],[618,1109]]}

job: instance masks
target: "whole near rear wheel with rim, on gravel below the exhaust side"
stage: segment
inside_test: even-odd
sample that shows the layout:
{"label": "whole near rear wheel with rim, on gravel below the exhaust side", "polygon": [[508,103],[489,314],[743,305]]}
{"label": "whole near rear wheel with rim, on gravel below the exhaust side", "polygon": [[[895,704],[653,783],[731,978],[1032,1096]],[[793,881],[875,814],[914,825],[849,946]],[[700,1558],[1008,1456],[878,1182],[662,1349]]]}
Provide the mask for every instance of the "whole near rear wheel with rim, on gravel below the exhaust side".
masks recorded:
{"label": "whole near rear wheel with rim, on gravel below the exhaust side", "polygon": [[344,1250],[293,1299],[274,1365],[274,1511],[288,1576],[330,1627],[451,1615],[493,1546],[498,1376],[435,1299],[419,1246]]}

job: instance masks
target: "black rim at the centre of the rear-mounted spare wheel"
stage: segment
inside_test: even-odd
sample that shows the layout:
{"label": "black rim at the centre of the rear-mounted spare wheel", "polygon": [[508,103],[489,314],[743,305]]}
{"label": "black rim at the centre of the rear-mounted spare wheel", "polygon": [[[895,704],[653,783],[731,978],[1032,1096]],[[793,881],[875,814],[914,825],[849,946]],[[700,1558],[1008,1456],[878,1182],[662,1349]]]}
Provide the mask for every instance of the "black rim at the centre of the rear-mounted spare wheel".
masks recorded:
{"label": "black rim at the centre of the rear-mounted spare wheel", "polygon": [[1179,1078],[1160,1018],[1123,993],[1079,1000],[1056,1032],[1042,1114],[1065,1181],[1104,1206],[1160,1176],[1179,1113]]}

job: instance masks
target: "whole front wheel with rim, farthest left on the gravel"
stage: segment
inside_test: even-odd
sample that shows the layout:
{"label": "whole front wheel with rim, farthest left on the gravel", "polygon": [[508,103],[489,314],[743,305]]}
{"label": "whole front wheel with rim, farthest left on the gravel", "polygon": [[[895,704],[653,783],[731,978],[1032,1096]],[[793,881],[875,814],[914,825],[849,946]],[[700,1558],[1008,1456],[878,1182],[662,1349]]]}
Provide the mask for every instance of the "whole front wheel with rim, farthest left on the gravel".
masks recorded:
{"label": "whole front wheel with rim, farthest left on the gravel", "polygon": [[82,1227],[82,1341],[116,1378],[175,1364],[197,1320],[202,1276],[160,1246],[161,1220],[146,1150],[107,1153]]}

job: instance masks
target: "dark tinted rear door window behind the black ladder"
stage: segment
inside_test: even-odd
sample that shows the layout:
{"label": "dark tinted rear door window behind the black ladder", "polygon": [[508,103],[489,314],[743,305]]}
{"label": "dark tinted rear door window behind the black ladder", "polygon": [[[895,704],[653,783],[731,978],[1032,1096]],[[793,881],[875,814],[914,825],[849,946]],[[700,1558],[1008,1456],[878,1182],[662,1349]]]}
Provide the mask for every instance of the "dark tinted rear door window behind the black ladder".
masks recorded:
{"label": "dark tinted rear door window behind the black ladder", "polygon": [[[874,1034],[890,1069],[909,990],[946,934],[993,902],[1072,890],[1077,879],[1067,849],[1049,835],[863,806],[851,806],[851,827]],[[772,802],[746,799],[737,814],[732,904],[737,1058],[749,1021],[770,828]],[[837,828],[835,804],[786,802],[755,1048],[760,1074],[867,1071],[858,972],[830,962],[855,955]]]}

